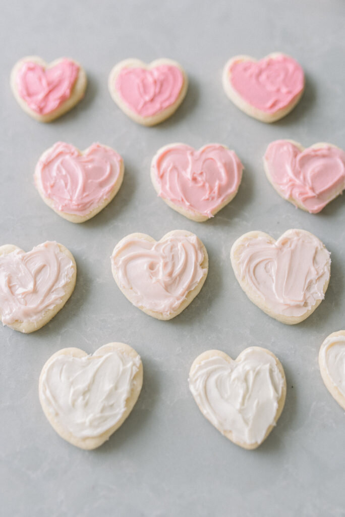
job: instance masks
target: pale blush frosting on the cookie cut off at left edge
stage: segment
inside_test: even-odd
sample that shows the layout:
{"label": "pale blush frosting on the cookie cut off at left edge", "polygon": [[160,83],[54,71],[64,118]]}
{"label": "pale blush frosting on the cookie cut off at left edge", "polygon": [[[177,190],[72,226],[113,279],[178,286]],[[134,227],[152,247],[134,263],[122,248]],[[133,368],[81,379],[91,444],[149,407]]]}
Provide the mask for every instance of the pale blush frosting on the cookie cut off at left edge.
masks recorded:
{"label": "pale blush frosting on the cookie cut off at left edge", "polygon": [[0,313],[3,325],[37,322],[62,301],[74,265],[56,242],[44,242],[25,253],[0,256]]}

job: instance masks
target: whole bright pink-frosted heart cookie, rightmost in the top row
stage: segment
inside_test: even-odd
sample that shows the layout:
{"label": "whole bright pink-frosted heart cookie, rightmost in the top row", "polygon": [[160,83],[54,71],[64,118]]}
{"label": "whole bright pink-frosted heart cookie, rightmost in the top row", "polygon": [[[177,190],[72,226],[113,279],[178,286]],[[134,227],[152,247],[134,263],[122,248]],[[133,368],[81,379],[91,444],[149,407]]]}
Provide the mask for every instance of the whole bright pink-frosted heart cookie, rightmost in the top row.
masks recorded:
{"label": "whole bright pink-frosted heart cookie, rightmost in the top row", "polygon": [[304,72],[292,57],[275,52],[256,61],[232,57],[224,67],[225,93],[240,110],[262,122],[287,115],[304,90]]}

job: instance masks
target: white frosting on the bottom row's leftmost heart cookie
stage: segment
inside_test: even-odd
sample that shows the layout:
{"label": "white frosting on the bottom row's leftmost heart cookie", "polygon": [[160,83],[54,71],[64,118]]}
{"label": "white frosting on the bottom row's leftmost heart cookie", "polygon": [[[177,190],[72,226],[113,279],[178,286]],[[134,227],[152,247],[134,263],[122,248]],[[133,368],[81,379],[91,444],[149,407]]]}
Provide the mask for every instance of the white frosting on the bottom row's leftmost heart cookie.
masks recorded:
{"label": "white frosting on the bottom row's leftmost heart cookie", "polygon": [[102,348],[85,357],[57,356],[42,376],[41,398],[59,425],[73,436],[99,436],[126,410],[139,365],[139,356]]}

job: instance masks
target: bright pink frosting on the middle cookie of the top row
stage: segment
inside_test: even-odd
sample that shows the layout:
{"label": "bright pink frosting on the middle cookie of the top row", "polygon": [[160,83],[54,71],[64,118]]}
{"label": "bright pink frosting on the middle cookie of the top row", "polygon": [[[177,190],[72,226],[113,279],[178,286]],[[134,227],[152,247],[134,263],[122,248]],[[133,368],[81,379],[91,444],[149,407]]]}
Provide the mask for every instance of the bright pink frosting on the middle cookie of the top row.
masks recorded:
{"label": "bright pink frosting on the middle cookie of the top row", "polygon": [[181,70],[172,65],[123,68],[115,88],[131,110],[142,117],[151,117],[177,101],[183,81]]}

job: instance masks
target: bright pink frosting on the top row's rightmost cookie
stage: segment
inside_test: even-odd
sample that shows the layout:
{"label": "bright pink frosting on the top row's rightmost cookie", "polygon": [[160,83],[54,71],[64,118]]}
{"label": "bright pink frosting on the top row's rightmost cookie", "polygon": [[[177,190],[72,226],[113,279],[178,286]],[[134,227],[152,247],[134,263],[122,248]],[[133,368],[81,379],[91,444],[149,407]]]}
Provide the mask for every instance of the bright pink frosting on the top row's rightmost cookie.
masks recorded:
{"label": "bright pink frosting on the top row's rightmost cookie", "polygon": [[260,61],[234,61],[229,68],[231,86],[249,104],[266,113],[287,107],[304,88],[301,65],[285,55]]}

